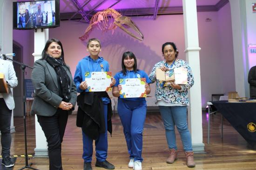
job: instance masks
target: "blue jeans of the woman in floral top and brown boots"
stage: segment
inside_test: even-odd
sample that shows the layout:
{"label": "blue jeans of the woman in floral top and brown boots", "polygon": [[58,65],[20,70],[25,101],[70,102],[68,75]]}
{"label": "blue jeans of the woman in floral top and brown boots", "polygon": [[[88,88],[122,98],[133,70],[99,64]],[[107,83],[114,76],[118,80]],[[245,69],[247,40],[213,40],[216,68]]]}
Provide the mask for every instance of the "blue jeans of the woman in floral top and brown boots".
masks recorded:
{"label": "blue jeans of the woman in floral top and brown boots", "polygon": [[193,151],[191,135],[187,124],[186,106],[159,106],[165,127],[165,135],[169,149],[176,149],[175,125],[181,135],[184,151]]}

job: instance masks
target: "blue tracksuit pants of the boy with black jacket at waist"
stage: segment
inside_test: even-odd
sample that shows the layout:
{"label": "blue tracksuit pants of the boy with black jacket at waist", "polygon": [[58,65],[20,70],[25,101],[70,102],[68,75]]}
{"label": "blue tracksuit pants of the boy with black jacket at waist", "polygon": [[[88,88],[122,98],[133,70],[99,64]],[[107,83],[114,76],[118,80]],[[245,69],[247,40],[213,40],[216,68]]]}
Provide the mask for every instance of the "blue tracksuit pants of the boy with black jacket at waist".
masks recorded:
{"label": "blue tracksuit pants of the boy with black jacket at waist", "polygon": [[[108,156],[108,125],[107,125],[108,104],[103,104],[103,106],[104,106],[106,132],[101,133],[99,138],[95,140],[96,158],[100,162],[105,161]],[[89,138],[84,132],[82,132],[82,135],[83,135],[83,156],[82,157],[84,159],[84,162],[92,162],[93,139]]]}

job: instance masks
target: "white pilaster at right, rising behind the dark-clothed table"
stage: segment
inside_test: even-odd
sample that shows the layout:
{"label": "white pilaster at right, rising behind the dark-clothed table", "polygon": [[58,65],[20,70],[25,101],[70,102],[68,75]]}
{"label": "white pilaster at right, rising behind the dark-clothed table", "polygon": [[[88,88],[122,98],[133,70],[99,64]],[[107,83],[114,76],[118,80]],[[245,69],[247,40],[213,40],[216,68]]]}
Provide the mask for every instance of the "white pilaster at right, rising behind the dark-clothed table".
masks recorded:
{"label": "white pilaster at right, rising behind the dark-clothed table", "polygon": [[[249,97],[245,0],[229,0],[229,3],[232,20],[236,91],[241,97]],[[255,30],[255,28],[252,29]]]}

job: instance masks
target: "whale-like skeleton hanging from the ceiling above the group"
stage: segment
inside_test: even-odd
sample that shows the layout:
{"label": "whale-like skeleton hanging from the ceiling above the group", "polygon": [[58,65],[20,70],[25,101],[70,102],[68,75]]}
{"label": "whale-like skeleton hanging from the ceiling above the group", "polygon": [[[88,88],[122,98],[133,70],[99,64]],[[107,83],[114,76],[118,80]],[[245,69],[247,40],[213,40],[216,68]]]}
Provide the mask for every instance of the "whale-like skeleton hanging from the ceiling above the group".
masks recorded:
{"label": "whale-like skeleton hanging from the ceiling above the group", "polygon": [[[134,29],[140,35],[140,37],[135,36],[132,32],[128,31],[123,25],[126,25]],[[133,38],[136,38],[141,41],[144,39],[143,34],[139,30],[138,26],[135,25],[135,23],[131,20],[130,17],[122,16],[121,13],[118,13],[117,11],[115,11],[115,9],[112,8],[108,8],[104,11],[95,13],[94,16],[91,18],[90,24],[87,27],[86,31],[79,38],[82,41],[86,40],[90,32],[93,31],[95,26],[97,27],[97,29],[102,30],[102,32],[112,30],[112,34],[118,26]]]}

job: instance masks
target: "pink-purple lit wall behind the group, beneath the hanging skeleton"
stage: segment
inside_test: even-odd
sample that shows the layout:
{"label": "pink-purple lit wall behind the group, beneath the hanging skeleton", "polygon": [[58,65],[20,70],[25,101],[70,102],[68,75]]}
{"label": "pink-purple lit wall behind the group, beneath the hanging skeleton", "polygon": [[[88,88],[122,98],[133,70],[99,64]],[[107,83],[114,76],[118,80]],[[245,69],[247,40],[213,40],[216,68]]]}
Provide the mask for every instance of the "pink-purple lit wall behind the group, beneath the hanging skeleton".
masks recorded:
{"label": "pink-purple lit wall behind the group, beneath the hanging skeleton", "polygon": [[[138,59],[139,69],[149,73],[152,66],[163,59],[161,52],[162,43],[174,41],[177,42],[176,44],[180,51],[184,50],[182,15],[175,15],[172,18],[161,16],[155,21],[157,24],[154,23],[151,17],[135,17],[133,21],[135,21],[144,34],[145,39],[143,42],[131,38],[119,28],[115,30],[113,36],[111,31],[102,34],[97,29],[90,34],[89,38],[95,37],[101,40],[102,49],[100,55],[109,62],[111,71],[114,74],[121,70],[121,55],[124,51],[133,51]],[[181,27],[172,28],[172,26],[169,26],[172,22],[181,25]],[[158,25],[163,26],[159,28]],[[65,50],[65,60],[71,66],[76,65],[82,57],[89,55],[86,51],[86,42],[81,42],[78,39],[87,26],[84,23],[62,21],[61,27],[49,31],[50,38],[54,37],[61,40]],[[168,32],[169,30],[172,30],[174,33]],[[180,58],[185,58],[184,53],[181,52]],[[71,67],[71,71],[74,73],[75,67]]]}

